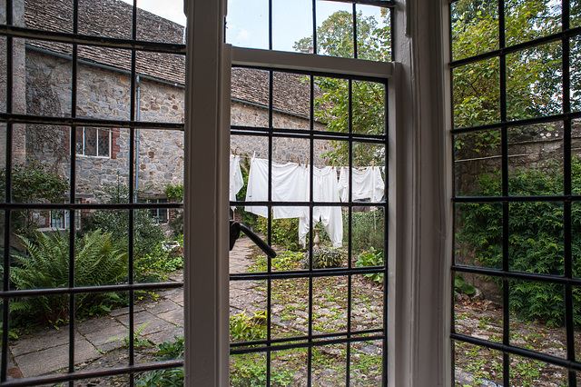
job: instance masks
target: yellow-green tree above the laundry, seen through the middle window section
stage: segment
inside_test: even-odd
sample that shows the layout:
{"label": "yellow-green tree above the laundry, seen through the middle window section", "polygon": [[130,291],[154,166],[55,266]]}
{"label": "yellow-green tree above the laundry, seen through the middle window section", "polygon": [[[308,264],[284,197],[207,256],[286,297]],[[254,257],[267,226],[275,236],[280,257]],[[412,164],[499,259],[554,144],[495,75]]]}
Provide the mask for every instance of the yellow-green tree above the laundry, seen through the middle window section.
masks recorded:
{"label": "yellow-green tree above the laundry, seen through the middle window section", "polygon": [[[389,61],[390,28],[384,12],[383,24],[373,16],[357,14],[358,57],[375,61]],[[312,38],[304,37],[294,45],[296,50],[312,48]],[[317,28],[317,52],[319,54],[353,57],[353,16],[347,11],[338,11],[329,16]],[[349,82],[345,79],[317,77],[315,83],[323,95],[315,100],[315,116],[327,124],[332,132],[349,130]],[[385,86],[384,84],[353,81],[352,85],[352,131],[358,134],[383,134],[385,131]],[[332,141],[333,150],[324,154],[331,162],[349,164],[349,144]],[[385,163],[383,147],[369,144],[353,144],[353,163],[369,165]]]}

